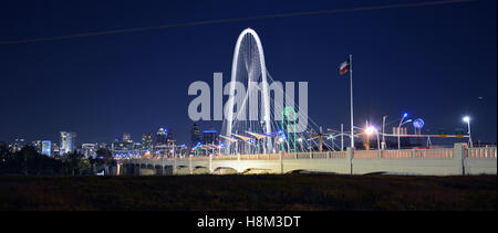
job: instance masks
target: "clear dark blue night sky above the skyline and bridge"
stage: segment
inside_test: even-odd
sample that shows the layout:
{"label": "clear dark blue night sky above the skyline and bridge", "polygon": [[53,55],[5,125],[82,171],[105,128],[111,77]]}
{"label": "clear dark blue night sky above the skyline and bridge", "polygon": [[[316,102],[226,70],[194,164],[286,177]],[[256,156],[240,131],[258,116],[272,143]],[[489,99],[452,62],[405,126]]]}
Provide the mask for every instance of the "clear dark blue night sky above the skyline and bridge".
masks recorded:
{"label": "clear dark blue night sky above the skyline and bridge", "polygon": [[[203,20],[421,1],[2,1],[0,41]],[[238,34],[255,29],[278,81],[309,82],[319,125],[349,126],[354,57],[355,121],[398,120],[404,110],[437,131],[497,138],[497,6],[492,0],[0,44],[0,140],[134,140],[159,127],[189,140],[195,81],[230,75]],[[481,100],[478,97],[484,97]],[[201,124],[203,128],[211,124]]]}

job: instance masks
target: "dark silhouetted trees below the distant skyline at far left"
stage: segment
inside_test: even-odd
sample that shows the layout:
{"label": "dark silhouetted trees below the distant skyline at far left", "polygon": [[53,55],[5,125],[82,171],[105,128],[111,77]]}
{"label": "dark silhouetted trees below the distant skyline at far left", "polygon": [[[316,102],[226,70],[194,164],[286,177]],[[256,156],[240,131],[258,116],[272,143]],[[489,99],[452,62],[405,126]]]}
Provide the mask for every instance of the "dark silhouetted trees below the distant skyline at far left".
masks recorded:
{"label": "dark silhouetted trees below the distant skyline at far left", "polygon": [[0,144],[0,174],[27,176],[76,176],[96,174],[115,166],[111,151],[98,149],[96,157],[84,158],[82,153],[71,152],[58,157],[41,155],[32,146],[12,151],[7,144]]}

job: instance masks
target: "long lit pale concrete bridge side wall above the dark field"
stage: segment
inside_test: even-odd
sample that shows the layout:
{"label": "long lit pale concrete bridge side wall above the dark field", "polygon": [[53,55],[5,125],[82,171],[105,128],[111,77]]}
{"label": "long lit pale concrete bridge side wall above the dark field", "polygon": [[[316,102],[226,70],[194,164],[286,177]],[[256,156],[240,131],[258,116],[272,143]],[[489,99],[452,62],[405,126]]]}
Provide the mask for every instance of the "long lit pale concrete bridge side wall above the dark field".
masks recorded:
{"label": "long lit pale concrete bridge side wall above the dark field", "polygon": [[[427,176],[497,173],[496,147],[467,148],[456,144],[454,148],[409,150],[353,150],[331,152],[239,155],[221,157],[190,157],[165,160],[125,160],[121,174],[139,174],[151,169],[155,174],[212,173],[222,168],[238,172],[248,169],[270,173],[294,170],[364,174],[372,172],[414,173]],[[160,170],[163,169],[163,170]],[[138,171],[137,171],[138,170]],[[197,172],[195,172],[197,171]],[[149,173],[146,171],[145,173]]]}

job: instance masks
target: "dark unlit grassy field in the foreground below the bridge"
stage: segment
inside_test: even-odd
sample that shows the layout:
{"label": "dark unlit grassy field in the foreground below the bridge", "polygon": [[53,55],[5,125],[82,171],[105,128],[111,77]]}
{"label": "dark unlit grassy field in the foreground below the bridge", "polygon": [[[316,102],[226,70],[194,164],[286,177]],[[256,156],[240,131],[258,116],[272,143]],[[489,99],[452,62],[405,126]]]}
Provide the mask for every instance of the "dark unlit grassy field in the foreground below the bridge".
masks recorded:
{"label": "dark unlit grassy field in the foreground below the bridge", "polygon": [[0,210],[497,210],[497,177],[0,177]]}

